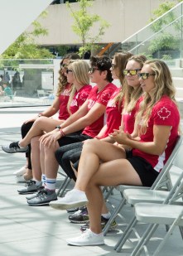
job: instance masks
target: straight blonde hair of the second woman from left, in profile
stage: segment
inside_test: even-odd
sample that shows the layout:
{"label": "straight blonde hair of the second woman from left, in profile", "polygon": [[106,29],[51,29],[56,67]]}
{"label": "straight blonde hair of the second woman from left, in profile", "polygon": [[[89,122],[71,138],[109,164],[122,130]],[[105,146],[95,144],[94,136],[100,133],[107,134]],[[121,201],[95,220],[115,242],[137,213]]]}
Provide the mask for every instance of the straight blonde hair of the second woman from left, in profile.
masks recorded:
{"label": "straight blonde hair of the second woman from left, in profile", "polygon": [[[89,63],[86,60],[70,60],[69,67],[73,72],[75,80],[80,85],[89,85]],[[76,92],[75,85],[72,86],[70,99],[67,104],[67,111],[70,113],[70,104]]]}

